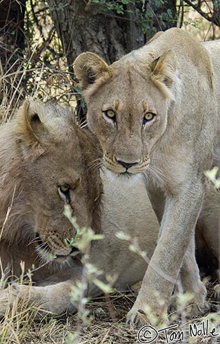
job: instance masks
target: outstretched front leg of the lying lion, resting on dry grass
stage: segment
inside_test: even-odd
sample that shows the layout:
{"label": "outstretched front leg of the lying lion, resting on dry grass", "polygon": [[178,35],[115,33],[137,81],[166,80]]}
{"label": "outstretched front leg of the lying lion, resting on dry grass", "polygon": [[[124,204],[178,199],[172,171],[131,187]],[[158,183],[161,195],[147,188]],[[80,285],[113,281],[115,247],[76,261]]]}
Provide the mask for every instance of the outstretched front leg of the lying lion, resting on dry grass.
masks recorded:
{"label": "outstretched front leg of the lying lion, resting on dry grass", "polygon": [[59,316],[66,312],[72,313],[75,310],[70,301],[72,285],[73,281],[71,280],[44,287],[14,284],[11,294],[21,299],[27,299],[28,303],[39,306],[42,314],[48,312]]}

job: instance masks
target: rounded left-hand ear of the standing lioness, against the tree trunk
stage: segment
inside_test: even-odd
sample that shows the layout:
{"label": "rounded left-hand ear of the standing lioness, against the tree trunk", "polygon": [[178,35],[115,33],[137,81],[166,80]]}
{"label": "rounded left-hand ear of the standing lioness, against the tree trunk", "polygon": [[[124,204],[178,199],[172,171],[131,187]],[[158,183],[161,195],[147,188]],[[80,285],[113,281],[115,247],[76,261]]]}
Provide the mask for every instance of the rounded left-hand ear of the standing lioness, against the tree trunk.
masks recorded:
{"label": "rounded left-hand ear of the standing lioness, against the tree trunk", "polygon": [[81,89],[88,88],[98,78],[110,76],[110,68],[101,57],[92,52],[83,52],[73,63],[74,74],[79,80]]}

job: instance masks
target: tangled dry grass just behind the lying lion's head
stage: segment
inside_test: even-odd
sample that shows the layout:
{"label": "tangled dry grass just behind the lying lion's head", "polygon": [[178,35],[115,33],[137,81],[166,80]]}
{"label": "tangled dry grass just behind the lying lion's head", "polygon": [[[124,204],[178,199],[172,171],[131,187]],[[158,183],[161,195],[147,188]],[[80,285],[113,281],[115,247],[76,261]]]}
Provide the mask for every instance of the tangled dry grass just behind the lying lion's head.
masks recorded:
{"label": "tangled dry grass just behind the lying lion's head", "polygon": [[[3,49],[0,43],[0,49]],[[57,66],[46,66],[39,63],[32,67],[34,49],[28,59],[16,61],[17,69],[8,69],[2,74],[0,61],[0,123],[12,116],[25,98],[39,98],[43,101],[57,100],[63,105],[72,106],[76,100],[70,74],[66,69]]]}

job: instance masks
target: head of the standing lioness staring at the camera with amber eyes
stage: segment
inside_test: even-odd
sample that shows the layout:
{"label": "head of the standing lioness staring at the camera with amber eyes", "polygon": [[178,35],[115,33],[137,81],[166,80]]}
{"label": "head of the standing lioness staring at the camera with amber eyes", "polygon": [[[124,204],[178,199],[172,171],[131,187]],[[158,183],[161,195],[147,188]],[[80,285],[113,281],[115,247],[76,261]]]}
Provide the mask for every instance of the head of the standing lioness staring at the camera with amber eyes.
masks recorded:
{"label": "head of the standing lioness staring at the camera with amber eyes", "polygon": [[[135,55],[136,54],[136,55]],[[132,52],[108,66],[90,52],[79,55],[74,72],[88,103],[88,125],[114,173],[142,173],[163,136],[173,100],[177,58]]]}

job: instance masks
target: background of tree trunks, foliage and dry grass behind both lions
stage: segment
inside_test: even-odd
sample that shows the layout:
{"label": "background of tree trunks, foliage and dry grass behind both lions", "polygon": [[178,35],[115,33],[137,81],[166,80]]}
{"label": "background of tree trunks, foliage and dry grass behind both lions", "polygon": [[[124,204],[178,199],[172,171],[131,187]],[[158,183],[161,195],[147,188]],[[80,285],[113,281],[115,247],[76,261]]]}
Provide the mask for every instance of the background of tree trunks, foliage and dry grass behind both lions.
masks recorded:
{"label": "background of tree trunks, foliage and dry grass behind both lions", "polygon": [[112,63],[159,30],[179,27],[208,40],[220,37],[219,26],[219,0],[1,0],[0,116],[37,95],[72,107],[77,100],[83,120],[72,72],[78,54],[90,50]]}

